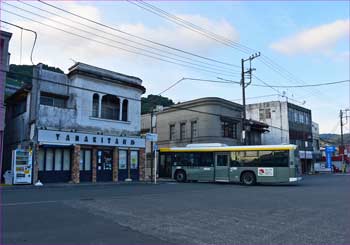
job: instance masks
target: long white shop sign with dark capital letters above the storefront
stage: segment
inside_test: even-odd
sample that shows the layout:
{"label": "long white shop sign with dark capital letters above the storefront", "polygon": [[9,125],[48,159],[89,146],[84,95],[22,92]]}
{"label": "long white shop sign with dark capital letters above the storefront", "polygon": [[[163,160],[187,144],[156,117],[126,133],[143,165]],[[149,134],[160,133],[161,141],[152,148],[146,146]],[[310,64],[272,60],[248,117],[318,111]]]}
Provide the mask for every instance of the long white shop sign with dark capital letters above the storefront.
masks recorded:
{"label": "long white shop sign with dark capital letters above the storefront", "polygon": [[145,139],[85,134],[56,130],[39,130],[38,141],[42,144],[79,144],[144,148]]}

